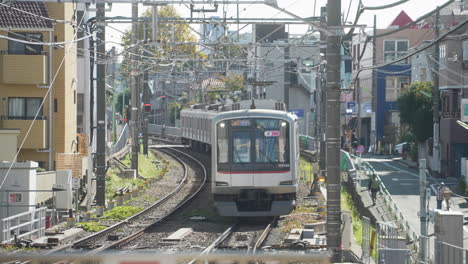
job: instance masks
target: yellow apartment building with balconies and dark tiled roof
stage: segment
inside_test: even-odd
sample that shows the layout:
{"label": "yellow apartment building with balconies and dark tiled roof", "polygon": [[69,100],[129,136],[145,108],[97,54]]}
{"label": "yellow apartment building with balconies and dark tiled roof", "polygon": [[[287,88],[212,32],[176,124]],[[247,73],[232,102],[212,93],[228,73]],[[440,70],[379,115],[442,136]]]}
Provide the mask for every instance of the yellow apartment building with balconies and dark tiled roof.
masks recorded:
{"label": "yellow apartment building with balconies and dark tiled roof", "polygon": [[[73,40],[72,25],[46,18],[70,21],[74,4],[8,5],[11,8],[0,6],[0,130],[20,129],[18,161],[36,161],[46,169],[77,168],[81,158],[76,133],[76,44],[33,44]],[[51,83],[53,100],[49,101]],[[51,146],[49,131],[53,133]]]}

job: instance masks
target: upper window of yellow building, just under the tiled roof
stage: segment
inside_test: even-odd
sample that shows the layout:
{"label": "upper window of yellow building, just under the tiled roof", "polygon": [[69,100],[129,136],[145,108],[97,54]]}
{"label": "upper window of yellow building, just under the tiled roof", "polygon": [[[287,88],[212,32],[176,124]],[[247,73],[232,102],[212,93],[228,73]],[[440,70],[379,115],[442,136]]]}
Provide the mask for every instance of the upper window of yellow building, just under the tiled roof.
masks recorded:
{"label": "upper window of yellow building, just under the tiled roof", "polygon": [[[31,42],[42,42],[41,33],[15,32],[8,33],[8,37]],[[42,45],[26,44],[15,40],[8,40],[8,54],[40,55],[42,54]]]}

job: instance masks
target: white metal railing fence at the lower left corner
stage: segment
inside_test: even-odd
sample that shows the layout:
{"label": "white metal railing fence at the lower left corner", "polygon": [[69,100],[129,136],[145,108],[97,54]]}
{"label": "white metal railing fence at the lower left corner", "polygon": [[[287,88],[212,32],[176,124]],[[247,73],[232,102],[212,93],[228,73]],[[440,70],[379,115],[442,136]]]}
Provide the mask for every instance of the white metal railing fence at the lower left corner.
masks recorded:
{"label": "white metal railing fence at the lower left corner", "polygon": [[46,207],[0,219],[0,242],[17,238],[38,238],[45,235]]}

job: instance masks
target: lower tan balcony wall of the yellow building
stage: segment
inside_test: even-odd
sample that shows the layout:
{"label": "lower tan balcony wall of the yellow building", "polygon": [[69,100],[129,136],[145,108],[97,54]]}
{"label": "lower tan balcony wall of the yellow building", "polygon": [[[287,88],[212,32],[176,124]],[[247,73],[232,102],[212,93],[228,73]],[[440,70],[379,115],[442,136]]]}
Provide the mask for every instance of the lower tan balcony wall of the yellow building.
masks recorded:
{"label": "lower tan balcony wall of the yellow building", "polygon": [[[47,120],[34,121],[34,124],[29,132],[29,136],[24,142],[24,149],[45,149],[47,148]],[[28,132],[29,126],[33,120],[10,120],[8,117],[2,116],[0,119],[0,128],[16,128],[21,132],[18,135],[18,146],[23,142],[23,139]]]}

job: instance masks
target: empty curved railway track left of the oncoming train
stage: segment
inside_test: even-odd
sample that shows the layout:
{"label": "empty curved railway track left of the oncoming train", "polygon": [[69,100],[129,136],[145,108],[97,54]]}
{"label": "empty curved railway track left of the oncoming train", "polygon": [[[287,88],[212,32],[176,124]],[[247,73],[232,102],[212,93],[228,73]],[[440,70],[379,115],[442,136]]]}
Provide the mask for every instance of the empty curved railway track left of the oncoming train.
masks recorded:
{"label": "empty curved railway track left of the oncoming train", "polygon": [[[80,249],[80,253],[83,253],[83,250],[87,251],[86,254],[96,254],[99,252],[102,252],[107,249],[113,249],[113,248],[118,248],[120,245],[123,245],[125,243],[128,243],[129,241],[132,241],[144,232],[146,227],[152,226],[157,224],[159,221],[163,220],[170,214],[172,214],[174,211],[176,211],[178,208],[180,208],[183,204],[187,203],[190,199],[192,199],[197,192],[193,192],[188,198],[184,198],[182,202],[177,202],[173,201],[174,197],[180,198],[177,194],[186,187],[187,184],[191,184],[192,181],[189,181],[189,173],[188,173],[188,168],[186,165],[186,162],[182,161],[182,159],[178,156],[180,155],[186,155],[189,156],[188,154],[185,154],[181,151],[178,150],[173,150],[171,149],[170,151],[163,151],[160,150],[167,155],[172,156],[174,159],[176,159],[184,168],[184,175],[182,179],[180,180],[180,183],[175,189],[166,195],[165,197],[159,199],[155,203],[153,203],[151,206],[145,208],[143,211],[139,212],[138,214],[135,214],[123,221],[120,221],[111,227],[102,230],[100,232],[97,232],[95,234],[92,234],[90,236],[87,236],[85,238],[82,238],[73,244],[70,245],[64,245],[62,247],[58,247],[55,249],[52,249],[48,252],[46,252],[44,255],[53,255],[53,254],[73,254],[76,253],[77,249]],[[174,154],[177,153],[177,154]],[[191,159],[195,160],[195,158],[190,157]],[[197,161],[198,162],[198,161]],[[206,182],[206,170],[204,169],[204,166],[199,163],[199,166],[203,168],[204,175],[202,176],[200,186],[197,187],[198,190],[200,190],[205,182]],[[191,189],[191,187],[189,187]],[[173,206],[172,209],[164,210],[161,211],[160,207],[164,204],[171,204]],[[145,228],[142,228],[143,226],[146,226]],[[108,241],[108,238],[121,238],[117,239],[116,241]],[[123,238],[122,238],[123,237]]]}

